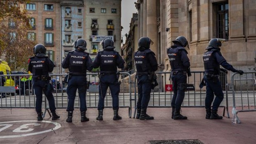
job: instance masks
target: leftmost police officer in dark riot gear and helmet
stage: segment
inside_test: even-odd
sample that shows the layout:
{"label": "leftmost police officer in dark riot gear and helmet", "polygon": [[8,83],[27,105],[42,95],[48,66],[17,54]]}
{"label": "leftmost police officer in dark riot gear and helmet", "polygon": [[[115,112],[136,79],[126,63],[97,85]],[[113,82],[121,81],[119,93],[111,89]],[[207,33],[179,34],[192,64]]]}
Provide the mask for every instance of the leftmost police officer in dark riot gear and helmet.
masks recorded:
{"label": "leftmost police officer in dark riot gear and helmet", "polygon": [[45,56],[46,48],[43,44],[36,44],[33,48],[35,56],[28,60],[28,71],[33,74],[33,88],[36,94],[36,112],[37,120],[42,121],[42,98],[44,92],[48,102],[50,111],[52,112],[52,120],[56,120],[59,116],[55,112],[55,101],[52,95],[52,85],[50,84],[49,72],[52,72],[55,65],[52,60]]}

